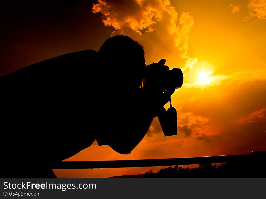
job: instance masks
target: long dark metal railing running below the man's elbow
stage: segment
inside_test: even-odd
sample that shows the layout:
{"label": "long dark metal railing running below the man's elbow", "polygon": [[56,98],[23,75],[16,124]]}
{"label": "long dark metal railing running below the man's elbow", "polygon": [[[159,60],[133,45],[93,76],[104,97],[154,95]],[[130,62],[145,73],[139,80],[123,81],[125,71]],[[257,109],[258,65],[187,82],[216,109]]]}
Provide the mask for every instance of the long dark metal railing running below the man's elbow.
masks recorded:
{"label": "long dark metal railing running below the man's elbow", "polygon": [[224,163],[236,161],[265,161],[266,151],[252,151],[244,155],[219,155],[193,158],[164,158],[147,160],[109,160],[109,161],[63,161],[54,165],[53,169],[94,169],[122,167],[154,167],[189,164]]}

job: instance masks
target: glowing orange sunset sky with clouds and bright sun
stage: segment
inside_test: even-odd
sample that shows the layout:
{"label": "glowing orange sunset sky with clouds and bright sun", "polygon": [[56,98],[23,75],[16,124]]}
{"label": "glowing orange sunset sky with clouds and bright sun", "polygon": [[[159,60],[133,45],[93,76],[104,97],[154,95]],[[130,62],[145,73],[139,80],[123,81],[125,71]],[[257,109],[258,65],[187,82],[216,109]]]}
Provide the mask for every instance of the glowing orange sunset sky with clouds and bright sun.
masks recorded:
{"label": "glowing orange sunset sky with clouds and bright sun", "polygon": [[[182,88],[171,98],[177,136],[165,137],[155,118],[129,155],[95,141],[68,161],[266,150],[266,0],[36,2],[11,0],[1,6],[1,76],[65,53],[98,51],[107,38],[120,34],[144,46],[147,65],[165,58],[165,65],[184,74]],[[54,172],[57,177],[110,177],[160,168]]]}

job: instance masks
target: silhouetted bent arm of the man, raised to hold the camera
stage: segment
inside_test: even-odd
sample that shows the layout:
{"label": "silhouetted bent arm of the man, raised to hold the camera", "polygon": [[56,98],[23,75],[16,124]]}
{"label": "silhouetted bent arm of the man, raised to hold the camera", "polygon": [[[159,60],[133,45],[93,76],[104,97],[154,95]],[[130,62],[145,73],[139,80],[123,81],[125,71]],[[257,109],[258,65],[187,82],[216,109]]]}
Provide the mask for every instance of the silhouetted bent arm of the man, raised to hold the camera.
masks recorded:
{"label": "silhouetted bent arm of the man, raised to hold the camera", "polygon": [[[160,70],[168,70],[164,63],[165,61],[155,64],[158,67],[158,73]],[[134,104],[125,107],[127,111],[125,115],[129,115],[129,117],[126,124],[120,124],[123,131],[109,134],[107,136],[108,145],[118,153],[129,154],[144,138],[153,118],[160,114],[164,104],[170,100],[174,91],[174,88],[168,91],[160,88],[157,79],[146,82],[144,87],[135,93]],[[119,124],[119,121],[117,122]]]}

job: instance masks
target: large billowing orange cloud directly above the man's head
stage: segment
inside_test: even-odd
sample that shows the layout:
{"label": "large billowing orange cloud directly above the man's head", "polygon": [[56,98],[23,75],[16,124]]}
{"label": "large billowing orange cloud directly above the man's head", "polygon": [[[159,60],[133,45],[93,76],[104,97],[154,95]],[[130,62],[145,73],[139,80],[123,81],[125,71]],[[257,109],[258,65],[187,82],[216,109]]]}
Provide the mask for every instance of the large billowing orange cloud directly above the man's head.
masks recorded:
{"label": "large billowing orange cloud directly above the man's head", "polygon": [[174,44],[181,52],[180,56],[186,57],[188,35],[194,20],[188,12],[183,12],[178,20],[178,13],[169,0],[98,0],[92,5],[92,12],[104,15],[104,25],[115,29],[112,35],[128,35],[132,31],[138,35],[156,32],[150,35],[150,38],[159,37],[154,39],[154,43],[164,43],[166,38],[171,38],[173,42],[169,42],[170,46]]}

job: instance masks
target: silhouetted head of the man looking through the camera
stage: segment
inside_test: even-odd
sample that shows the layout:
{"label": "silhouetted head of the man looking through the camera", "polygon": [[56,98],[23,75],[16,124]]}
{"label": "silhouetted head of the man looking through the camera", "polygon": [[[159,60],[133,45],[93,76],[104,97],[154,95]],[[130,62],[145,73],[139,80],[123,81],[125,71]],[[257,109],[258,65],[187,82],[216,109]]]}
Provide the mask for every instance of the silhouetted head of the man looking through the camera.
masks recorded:
{"label": "silhouetted head of the man looking through the camera", "polygon": [[101,46],[99,55],[104,69],[119,78],[120,85],[135,88],[141,85],[145,58],[143,46],[137,41],[123,35],[109,38]]}

